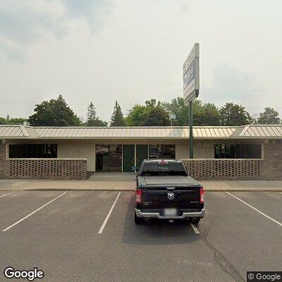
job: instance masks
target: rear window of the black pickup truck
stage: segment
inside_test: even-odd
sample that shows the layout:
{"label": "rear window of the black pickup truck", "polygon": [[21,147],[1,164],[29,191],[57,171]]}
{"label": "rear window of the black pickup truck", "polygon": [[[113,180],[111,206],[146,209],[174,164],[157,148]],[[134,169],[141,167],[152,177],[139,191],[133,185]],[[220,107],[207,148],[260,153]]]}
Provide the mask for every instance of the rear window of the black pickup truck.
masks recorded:
{"label": "rear window of the black pickup truck", "polygon": [[140,176],[187,176],[183,164],[157,163],[144,164]]}

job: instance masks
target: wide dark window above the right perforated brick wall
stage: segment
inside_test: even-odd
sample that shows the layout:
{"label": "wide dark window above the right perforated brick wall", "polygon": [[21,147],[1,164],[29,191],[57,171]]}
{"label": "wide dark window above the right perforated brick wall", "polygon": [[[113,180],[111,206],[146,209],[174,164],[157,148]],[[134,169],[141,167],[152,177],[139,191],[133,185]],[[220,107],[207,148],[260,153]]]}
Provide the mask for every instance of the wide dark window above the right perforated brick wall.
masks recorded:
{"label": "wide dark window above the right perforated brick wall", "polygon": [[257,144],[215,144],[215,159],[260,159],[261,145]]}

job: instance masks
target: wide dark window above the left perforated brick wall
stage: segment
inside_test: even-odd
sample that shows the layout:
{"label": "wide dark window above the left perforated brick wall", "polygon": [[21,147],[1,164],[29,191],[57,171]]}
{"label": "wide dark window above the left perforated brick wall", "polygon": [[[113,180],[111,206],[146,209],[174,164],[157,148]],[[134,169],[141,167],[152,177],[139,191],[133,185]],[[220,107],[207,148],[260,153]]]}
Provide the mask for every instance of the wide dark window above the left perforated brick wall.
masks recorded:
{"label": "wide dark window above the left perforated brick wall", "polygon": [[10,158],[56,158],[56,144],[9,145]]}

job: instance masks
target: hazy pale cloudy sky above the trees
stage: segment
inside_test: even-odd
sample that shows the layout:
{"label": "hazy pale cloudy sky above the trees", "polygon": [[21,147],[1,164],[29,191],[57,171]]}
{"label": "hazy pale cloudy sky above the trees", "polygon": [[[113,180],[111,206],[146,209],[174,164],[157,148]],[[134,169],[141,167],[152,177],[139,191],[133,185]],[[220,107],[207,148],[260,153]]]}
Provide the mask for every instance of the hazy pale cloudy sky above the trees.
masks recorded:
{"label": "hazy pale cloudy sky above the trees", "polygon": [[105,120],[116,99],[168,102],[195,42],[200,99],[282,115],[281,0],[0,0],[0,116],[59,94]]}

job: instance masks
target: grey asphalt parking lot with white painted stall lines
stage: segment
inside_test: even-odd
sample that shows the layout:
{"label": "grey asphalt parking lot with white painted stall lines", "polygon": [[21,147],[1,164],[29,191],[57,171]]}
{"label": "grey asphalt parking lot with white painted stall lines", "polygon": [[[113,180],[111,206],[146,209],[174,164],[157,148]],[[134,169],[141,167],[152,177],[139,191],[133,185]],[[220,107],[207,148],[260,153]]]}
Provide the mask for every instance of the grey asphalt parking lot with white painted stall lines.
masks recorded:
{"label": "grey asphalt parking lot with white painted stall lines", "polygon": [[133,192],[2,191],[0,281],[20,281],[4,277],[7,266],[37,266],[49,282],[246,281],[246,271],[282,270],[281,192],[207,192],[205,206],[197,234],[187,222],[136,226]]}

